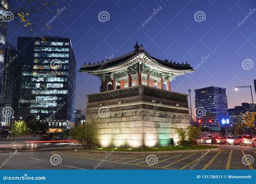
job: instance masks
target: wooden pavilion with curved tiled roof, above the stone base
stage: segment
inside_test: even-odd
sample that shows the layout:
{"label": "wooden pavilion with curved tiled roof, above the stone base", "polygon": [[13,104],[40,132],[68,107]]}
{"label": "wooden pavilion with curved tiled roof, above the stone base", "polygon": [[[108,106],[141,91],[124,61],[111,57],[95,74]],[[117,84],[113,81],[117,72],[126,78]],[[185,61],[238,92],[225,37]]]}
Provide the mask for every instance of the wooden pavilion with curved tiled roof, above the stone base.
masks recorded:
{"label": "wooden pavilion with curved tiled roof, above the stone base", "polygon": [[146,85],[158,89],[171,90],[171,81],[178,75],[194,72],[186,63],[160,60],[147,53],[143,45],[134,45],[134,51],[115,59],[90,63],[79,72],[98,76],[102,86],[100,91],[123,89]]}

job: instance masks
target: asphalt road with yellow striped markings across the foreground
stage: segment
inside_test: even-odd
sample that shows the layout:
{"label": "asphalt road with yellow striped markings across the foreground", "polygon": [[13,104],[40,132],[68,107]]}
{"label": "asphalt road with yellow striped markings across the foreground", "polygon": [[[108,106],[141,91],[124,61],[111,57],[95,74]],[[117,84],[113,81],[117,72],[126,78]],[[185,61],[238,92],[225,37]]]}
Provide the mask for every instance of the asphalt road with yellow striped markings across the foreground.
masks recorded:
{"label": "asphalt road with yellow striped markings across the foreground", "polygon": [[[238,146],[237,146],[238,147]],[[231,148],[231,147],[230,147]],[[233,147],[232,147],[233,148]],[[254,169],[256,149],[184,154],[86,153],[73,150],[0,153],[0,169]],[[246,155],[247,164],[243,163]],[[151,157],[149,160],[147,157]],[[244,157],[245,158],[245,157]],[[151,165],[153,164],[153,165]]]}

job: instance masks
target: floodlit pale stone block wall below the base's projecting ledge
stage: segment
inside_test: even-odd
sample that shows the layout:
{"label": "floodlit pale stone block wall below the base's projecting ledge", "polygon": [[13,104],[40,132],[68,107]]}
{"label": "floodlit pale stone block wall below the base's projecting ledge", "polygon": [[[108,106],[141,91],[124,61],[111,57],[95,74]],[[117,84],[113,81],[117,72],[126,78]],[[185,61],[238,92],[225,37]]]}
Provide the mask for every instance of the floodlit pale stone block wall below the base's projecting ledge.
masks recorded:
{"label": "floodlit pale stone block wall below the base's projecting ledge", "polygon": [[166,146],[170,138],[178,140],[177,128],[190,125],[190,116],[174,112],[134,109],[110,112],[107,117],[98,114],[86,116],[99,127],[99,144],[103,147]]}

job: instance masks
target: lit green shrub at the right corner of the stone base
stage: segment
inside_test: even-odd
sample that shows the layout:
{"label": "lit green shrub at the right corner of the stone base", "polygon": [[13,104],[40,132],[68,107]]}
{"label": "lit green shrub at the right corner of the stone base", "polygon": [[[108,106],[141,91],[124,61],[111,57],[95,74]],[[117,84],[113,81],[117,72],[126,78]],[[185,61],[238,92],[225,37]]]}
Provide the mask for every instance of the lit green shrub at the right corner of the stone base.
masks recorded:
{"label": "lit green shrub at the right corner of the stone base", "polygon": [[197,145],[197,137],[200,135],[200,129],[196,126],[188,126],[187,129],[177,129],[176,133],[179,136],[178,145],[180,146],[195,146]]}

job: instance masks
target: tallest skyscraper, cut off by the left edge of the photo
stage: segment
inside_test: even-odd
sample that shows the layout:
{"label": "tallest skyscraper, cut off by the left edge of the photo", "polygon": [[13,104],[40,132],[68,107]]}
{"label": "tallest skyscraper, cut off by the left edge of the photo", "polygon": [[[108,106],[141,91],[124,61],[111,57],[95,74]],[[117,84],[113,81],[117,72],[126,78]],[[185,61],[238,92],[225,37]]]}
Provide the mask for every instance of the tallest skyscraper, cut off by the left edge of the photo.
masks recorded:
{"label": "tallest skyscraper, cut off by the left edge of the photo", "polygon": [[3,85],[4,85],[4,72],[2,68],[4,67],[4,55],[6,47],[6,37],[7,37],[7,26],[8,21],[5,19],[6,13],[9,10],[9,0],[0,0],[0,123],[3,122]]}

